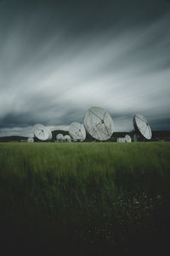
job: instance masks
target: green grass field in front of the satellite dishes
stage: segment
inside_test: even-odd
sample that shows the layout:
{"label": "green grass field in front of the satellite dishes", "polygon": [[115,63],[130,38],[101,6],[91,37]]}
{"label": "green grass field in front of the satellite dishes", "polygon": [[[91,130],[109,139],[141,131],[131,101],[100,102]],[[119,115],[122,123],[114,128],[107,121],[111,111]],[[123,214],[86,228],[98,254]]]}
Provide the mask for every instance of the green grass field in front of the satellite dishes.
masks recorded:
{"label": "green grass field in front of the satellite dishes", "polygon": [[7,253],[160,255],[169,214],[170,143],[0,143]]}

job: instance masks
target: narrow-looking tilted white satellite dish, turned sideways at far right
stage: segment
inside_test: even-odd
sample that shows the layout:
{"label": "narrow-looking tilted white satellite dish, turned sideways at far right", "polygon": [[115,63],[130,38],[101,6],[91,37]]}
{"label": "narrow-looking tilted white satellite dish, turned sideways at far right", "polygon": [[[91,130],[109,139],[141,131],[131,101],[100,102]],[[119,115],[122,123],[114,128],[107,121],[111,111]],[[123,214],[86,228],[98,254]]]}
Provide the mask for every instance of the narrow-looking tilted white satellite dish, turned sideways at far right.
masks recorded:
{"label": "narrow-looking tilted white satellite dish, turned sideways at far right", "polygon": [[150,125],[143,115],[137,113],[135,116],[133,116],[133,126],[135,131],[139,132],[147,140],[150,140]]}

